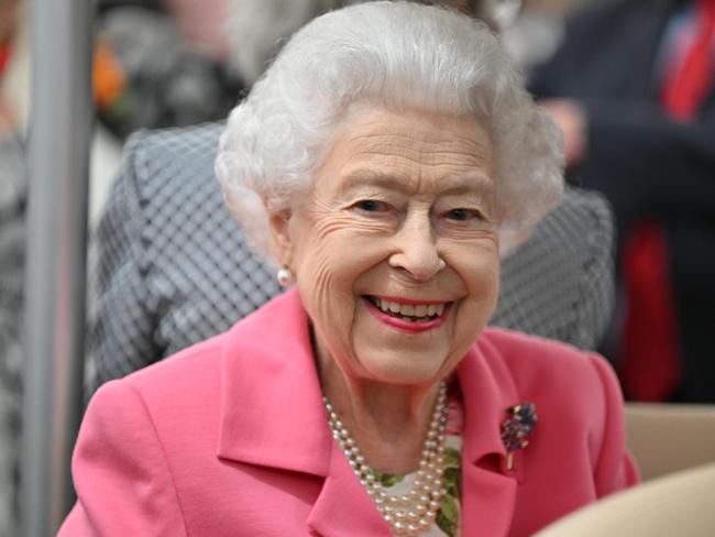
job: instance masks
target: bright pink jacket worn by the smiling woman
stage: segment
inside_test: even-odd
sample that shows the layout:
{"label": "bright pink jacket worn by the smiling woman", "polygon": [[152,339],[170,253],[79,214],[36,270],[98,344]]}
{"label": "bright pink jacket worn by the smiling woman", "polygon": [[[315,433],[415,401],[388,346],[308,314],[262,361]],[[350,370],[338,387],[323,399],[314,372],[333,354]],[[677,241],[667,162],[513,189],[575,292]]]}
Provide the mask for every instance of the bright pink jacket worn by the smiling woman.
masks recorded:
{"label": "bright pink jacket worn by the smiling woman", "polygon": [[[461,362],[462,535],[527,536],[637,481],[606,362],[486,329]],[[540,421],[507,471],[505,409]],[[59,536],[388,536],[333,442],[292,291],[230,331],[121,381],[87,409],[78,501]]]}

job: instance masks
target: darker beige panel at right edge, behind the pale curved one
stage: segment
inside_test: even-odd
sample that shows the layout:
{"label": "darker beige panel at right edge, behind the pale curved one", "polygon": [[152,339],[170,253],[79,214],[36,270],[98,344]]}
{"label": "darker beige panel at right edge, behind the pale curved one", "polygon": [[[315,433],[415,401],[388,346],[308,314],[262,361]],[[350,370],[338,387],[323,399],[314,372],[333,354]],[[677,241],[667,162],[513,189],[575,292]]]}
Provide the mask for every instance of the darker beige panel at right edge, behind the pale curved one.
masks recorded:
{"label": "darker beige panel at right edge, behind the pale curved one", "polygon": [[715,405],[628,403],[626,443],[644,481],[715,462]]}

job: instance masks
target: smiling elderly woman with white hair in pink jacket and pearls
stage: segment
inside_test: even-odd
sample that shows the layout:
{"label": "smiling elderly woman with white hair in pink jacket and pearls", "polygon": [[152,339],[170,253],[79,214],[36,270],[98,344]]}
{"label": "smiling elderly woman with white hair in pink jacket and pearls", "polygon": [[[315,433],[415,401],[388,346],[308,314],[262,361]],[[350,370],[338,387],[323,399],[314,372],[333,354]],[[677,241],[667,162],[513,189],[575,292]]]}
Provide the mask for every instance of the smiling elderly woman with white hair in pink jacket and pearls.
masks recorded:
{"label": "smiling elderly woman with white hair in pink jacket and pearls", "polygon": [[405,2],[308,24],[217,162],[295,288],[97,393],[61,535],[526,536],[634,483],[608,365],[484,328],[560,163],[484,24]]}

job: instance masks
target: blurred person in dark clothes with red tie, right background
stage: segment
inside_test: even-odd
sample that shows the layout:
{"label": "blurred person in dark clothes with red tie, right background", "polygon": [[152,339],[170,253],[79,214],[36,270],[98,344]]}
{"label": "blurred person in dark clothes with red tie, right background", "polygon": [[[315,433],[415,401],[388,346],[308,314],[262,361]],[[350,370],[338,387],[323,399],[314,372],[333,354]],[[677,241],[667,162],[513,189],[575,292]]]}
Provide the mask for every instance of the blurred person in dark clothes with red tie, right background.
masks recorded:
{"label": "blurred person in dark clothes with red tie, right background", "polygon": [[715,402],[715,0],[597,2],[532,89],[571,179],[602,190],[627,300],[612,358],[627,395]]}

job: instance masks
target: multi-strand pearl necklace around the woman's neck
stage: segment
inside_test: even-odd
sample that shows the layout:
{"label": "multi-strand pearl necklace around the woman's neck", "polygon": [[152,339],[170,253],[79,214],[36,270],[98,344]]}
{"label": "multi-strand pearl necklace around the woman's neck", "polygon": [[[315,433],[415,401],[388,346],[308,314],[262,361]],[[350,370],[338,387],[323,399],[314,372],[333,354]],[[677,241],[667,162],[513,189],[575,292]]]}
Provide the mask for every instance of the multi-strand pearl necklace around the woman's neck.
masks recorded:
{"label": "multi-strand pearl necklace around the woman's neck", "polygon": [[444,426],[449,412],[444,383],[440,384],[437,405],[427,431],[427,440],[422,447],[419,470],[407,494],[388,494],[385,491],[328,398],[323,397],[322,401],[328,413],[332,436],[340,445],[340,449],[348,458],[355,475],[367,490],[367,494],[372,497],[383,518],[389,524],[393,534],[416,536],[428,530],[435,523],[440,502],[447,492],[442,482]]}

